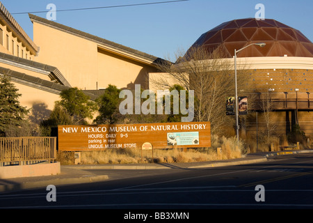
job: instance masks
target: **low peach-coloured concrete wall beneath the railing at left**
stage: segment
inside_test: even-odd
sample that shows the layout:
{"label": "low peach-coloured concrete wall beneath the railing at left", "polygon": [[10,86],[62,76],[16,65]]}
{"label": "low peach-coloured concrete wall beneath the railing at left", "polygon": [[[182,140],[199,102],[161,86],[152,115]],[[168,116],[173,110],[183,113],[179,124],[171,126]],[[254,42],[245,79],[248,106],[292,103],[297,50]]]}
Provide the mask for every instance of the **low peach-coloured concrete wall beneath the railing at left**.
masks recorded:
{"label": "low peach-coloured concrete wall beneath the railing at left", "polygon": [[0,167],[0,179],[61,174],[60,162]]}

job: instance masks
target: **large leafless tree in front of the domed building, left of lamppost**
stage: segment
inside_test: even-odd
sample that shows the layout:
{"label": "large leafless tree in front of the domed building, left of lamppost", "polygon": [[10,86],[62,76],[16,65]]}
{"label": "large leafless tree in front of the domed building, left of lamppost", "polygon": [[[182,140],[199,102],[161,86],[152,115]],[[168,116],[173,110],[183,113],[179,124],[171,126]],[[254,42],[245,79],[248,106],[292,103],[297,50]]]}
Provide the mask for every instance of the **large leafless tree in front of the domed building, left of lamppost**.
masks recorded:
{"label": "large leafless tree in front of the domed building, left of lamppost", "polygon": [[[223,51],[208,52],[202,47],[192,47],[175,64],[160,64],[159,70],[163,75],[152,79],[154,86],[169,89],[175,83],[186,90],[194,90],[194,121],[210,121],[213,134],[220,134],[223,128],[234,125],[234,117],[226,116],[225,112],[226,98],[235,95],[234,61],[226,59]],[[248,83],[243,70],[237,72],[238,89]]]}

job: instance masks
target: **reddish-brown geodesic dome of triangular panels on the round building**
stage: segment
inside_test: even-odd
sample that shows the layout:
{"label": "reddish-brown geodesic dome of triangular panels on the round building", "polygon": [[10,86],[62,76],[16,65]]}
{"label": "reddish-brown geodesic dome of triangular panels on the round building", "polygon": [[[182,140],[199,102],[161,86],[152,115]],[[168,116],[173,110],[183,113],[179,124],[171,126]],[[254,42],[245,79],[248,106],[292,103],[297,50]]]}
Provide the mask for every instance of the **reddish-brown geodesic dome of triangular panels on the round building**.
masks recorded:
{"label": "reddish-brown geodesic dome of triangular panels on the round building", "polygon": [[209,52],[220,48],[225,52],[226,57],[232,57],[234,49],[260,42],[266,43],[266,46],[252,45],[239,52],[237,56],[313,57],[313,43],[303,33],[275,20],[255,18],[224,22],[203,33],[193,47],[204,47]]}

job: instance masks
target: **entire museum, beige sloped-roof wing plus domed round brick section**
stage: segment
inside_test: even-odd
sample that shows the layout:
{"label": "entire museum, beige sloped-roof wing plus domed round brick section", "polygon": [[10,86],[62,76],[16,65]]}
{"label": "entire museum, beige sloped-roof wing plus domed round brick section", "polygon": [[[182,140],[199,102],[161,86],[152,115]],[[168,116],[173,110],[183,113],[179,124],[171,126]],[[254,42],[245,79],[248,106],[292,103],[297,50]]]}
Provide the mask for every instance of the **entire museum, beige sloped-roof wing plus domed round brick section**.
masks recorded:
{"label": "entire museum, beige sloped-roof wing plus domed round brick section", "polygon": [[[61,91],[70,87],[82,89],[91,100],[109,84],[152,89],[151,77],[161,75],[158,64],[164,60],[157,56],[36,15],[29,18],[33,40],[0,3],[0,75],[10,76],[25,107],[51,111]],[[262,97],[271,89],[276,132],[286,134],[298,123],[313,135],[313,43],[303,33],[275,20],[232,20],[203,33],[192,47],[221,49],[233,63],[234,49],[248,45],[236,54],[238,69],[248,70],[252,83],[246,88],[253,86],[252,93]],[[247,120],[241,137],[255,134],[256,123],[255,118]]]}

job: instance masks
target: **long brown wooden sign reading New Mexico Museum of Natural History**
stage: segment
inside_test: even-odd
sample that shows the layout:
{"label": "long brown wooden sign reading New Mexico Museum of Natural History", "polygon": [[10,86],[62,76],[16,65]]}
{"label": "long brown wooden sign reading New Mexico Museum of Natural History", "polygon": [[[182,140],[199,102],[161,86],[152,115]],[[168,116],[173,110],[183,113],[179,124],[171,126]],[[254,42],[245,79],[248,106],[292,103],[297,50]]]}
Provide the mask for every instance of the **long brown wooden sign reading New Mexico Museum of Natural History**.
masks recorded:
{"label": "long brown wooden sign reading New Mexico Museum of Natural History", "polygon": [[127,125],[58,125],[59,151],[106,148],[199,148],[211,146],[209,122]]}

